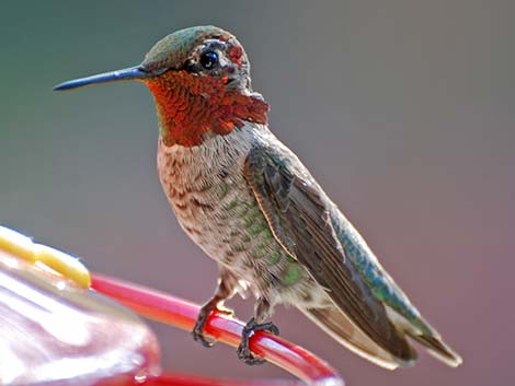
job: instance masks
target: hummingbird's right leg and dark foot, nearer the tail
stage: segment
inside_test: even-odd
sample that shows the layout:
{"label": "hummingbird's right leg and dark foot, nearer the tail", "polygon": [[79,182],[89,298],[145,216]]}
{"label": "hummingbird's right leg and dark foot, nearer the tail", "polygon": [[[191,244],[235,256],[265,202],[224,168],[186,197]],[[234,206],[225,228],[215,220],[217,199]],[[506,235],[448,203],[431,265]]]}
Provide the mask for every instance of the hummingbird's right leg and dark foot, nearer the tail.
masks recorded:
{"label": "hummingbird's right leg and dark foot, nearer the tail", "polygon": [[255,307],[255,317],[251,318],[241,334],[241,342],[238,347],[238,358],[247,364],[263,364],[266,361],[250,351],[249,338],[254,335],[255,331],[268,331],[273,335],[279,335],[279,329],[272,321],[258,323],[265,320],[272,312],[272,306],[265,299],[260,299]]}

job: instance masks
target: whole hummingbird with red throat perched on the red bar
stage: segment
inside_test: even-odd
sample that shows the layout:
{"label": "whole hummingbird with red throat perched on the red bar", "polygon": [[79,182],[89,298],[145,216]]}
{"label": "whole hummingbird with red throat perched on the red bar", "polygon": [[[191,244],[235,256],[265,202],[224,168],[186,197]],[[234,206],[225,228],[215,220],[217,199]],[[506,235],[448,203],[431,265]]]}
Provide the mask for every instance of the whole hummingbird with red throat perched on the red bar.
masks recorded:
{"label": "whole hummingbird with red throat perched on the red bar", "polygon": [[416,360],[414,340],[436,359],[461,358],[421,316],[360,234],[296,154],[268,129],[268,104],[253,91],[249,58],[216,26],[176,31],[136,67],[61,83],[55,90],[136,80],[156,103],[158,173],[184,232],[218,265],[218,283],[202,306],[193,337],[214,312],[247,291],[254,316],[238,356],[258,330],[278,335],[278,304],[293,305],[339,343],[393,370]]}

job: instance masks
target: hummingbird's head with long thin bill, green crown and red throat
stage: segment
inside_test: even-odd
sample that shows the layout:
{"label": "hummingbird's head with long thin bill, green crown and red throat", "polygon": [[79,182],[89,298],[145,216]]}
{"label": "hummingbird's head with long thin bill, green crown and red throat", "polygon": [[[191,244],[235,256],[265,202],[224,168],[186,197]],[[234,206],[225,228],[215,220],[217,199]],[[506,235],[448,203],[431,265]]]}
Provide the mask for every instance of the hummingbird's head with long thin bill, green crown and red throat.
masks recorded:
{"label": "hummingbird's head with long thin bill, green crown and red throat", "polygon": [[215,26],[180,30],[159,40],[141,65],[68,81],[54,90],[137,80],[153,95],[165,145],[199,145],[244,122],[265,125],[268,105],[251,87],[250,63],[230,33]]}

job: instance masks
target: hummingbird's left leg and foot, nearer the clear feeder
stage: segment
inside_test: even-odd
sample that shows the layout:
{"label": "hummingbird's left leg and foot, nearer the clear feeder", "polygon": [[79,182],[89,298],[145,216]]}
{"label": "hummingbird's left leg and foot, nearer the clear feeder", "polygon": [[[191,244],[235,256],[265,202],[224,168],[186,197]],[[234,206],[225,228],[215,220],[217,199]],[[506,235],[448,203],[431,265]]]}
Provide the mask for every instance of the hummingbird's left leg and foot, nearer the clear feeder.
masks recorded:
{"label": "hummingbird's left leg and foot, nearer the clear feeder", "polygon": [[216,340],[208,339],[204,335],[204,327],[207,323],[207,318],[211,312],[219,312],[232,316],[234,313],[232,309],[224,307],[224,301],[231,297],[236,292],[236,279],[227,271],[220,269],[220,277],[218,278],[218,284],[215,290],[215,294],[210,300],[203,304],[201,312],[198,313],[193,327],[193,339],[204,347],[213,347]]}

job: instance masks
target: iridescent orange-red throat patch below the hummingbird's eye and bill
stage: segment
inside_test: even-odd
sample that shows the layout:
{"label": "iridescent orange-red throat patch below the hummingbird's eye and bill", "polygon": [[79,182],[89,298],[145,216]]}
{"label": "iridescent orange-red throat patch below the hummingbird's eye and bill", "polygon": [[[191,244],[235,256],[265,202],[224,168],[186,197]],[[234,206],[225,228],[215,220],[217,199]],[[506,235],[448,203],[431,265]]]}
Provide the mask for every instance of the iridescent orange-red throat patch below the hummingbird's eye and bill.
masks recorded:
{"label": "iridescent orange-red throat patch below the hummingbird's eye and bill", "polygon": [[243,121],[266,124],[268,104],[259,94],[227,90],[227,78],[169,71],[146,80],[156,101],[165,145],[195,147],[206,132],[226,136]]}

